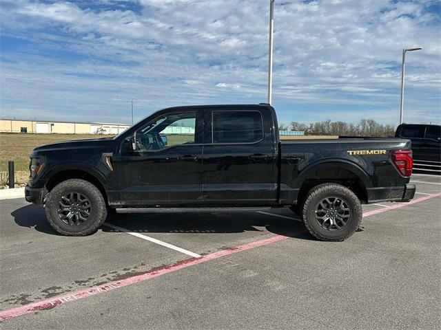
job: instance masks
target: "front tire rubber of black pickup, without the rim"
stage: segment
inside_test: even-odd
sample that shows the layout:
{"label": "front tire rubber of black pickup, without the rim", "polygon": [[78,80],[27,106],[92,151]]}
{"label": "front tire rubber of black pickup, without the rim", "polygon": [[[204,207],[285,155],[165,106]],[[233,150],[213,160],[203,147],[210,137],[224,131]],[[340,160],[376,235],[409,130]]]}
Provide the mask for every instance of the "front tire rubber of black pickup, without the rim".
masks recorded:
{"label": "front tire rubber of black pickup, without the rim", "polygon": [[[79,225],[68,225],[61,221],[57,210],[61,197],[69,192],[79,192],[90,201],[88,221]],[[48,194],[45,203],[46,219],[56,230],[65,236],[86,236],[93,234],[101,227],[107,217],[107,207],[100,190],[88,181],[69,179],[55,186]]]}

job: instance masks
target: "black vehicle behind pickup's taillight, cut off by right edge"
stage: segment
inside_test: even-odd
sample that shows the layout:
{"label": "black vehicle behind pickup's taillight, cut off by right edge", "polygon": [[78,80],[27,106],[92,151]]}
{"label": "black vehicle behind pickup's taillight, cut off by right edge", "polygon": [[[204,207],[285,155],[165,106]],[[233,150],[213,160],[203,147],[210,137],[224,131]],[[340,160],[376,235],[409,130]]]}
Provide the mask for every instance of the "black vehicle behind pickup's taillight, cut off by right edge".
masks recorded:
{"label": "black vehicle behind pickup's taillight, cut off by right edge", "polygon": [[395,136],[412,141],[413,159],[441,162],[440,125],[400,124]]}

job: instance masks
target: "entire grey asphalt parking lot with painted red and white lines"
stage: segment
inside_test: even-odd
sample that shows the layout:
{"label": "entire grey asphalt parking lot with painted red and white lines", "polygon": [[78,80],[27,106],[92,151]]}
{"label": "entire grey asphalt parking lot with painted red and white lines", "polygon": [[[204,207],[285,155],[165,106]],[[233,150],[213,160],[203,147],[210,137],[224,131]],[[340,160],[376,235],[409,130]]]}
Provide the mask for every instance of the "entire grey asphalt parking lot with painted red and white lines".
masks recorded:
{"label": "entire grey asphalt parking lot with painted red and white lines", "polygon": [[363,207],[364,229],[313,239],[287,209],[115,214],[59,236],[0,201],[2,329],[438,329],[441,177],[411,203]]}

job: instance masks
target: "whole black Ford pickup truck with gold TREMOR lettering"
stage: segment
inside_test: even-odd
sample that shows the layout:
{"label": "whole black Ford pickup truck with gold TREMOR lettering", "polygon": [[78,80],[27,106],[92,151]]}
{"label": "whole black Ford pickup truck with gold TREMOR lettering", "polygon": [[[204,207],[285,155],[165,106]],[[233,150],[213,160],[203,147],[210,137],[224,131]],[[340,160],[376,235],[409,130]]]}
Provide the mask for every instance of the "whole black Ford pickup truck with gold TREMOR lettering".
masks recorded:
{"label": "whole black Ford pickup truck with gold TREMOR lettering", "polygon": [[65,235],[115,210],[289,207],[316,238],[342,241],[361,203],[413,198],[410,149],[395,137],[280,141],[269,104],[173,107],[115,137],[35,148],[25,198]]}

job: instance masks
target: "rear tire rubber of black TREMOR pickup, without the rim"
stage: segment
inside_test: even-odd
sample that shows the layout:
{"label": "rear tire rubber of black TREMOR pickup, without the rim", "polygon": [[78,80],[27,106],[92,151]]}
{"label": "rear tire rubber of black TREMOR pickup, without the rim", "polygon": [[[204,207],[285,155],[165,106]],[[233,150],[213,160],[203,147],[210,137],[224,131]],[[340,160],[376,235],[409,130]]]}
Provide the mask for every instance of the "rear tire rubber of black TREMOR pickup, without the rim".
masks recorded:
{"label": "rear tire rubber of black TREMOR pickup, without the rim", "polygon": [[[347,202],[350,214],[349,222],[341,230],[329,231],[320,226],[316,220],[318,203],[327,197],[340,197]],[[361,203],[356,194],[340,184],[319,184],[307,193],[303,204],[302,219],[309,232],[320,241],[345,241],[358,229],[362,220]]]}

